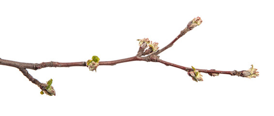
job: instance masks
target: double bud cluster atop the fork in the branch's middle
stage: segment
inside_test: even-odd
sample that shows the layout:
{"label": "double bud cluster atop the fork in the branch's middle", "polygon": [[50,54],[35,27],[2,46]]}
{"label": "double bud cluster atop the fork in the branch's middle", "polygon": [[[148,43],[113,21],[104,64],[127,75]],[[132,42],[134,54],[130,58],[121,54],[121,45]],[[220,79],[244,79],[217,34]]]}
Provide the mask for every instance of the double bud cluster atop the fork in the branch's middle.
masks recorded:
{"label": "double bud cluster atop the fork in the branch's middle", "polygon": [[154,53],[159,49],[158,47],[159,43],[156,43],[156,42],[152,43],[152,41],[150,41],[148,38],[138,39],[137,41],[139,41],[140,47],[143,47],[143,45],[145,45],[144,48],[147,48],[149,46],[149,48],[146,49],[145,51],[146,54]]}

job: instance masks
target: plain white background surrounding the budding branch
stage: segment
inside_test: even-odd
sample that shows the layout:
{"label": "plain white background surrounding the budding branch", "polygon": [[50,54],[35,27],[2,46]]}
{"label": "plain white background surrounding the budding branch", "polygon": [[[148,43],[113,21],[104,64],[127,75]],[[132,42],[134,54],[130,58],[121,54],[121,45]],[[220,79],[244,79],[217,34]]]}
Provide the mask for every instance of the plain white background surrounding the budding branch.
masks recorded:
{"label": "plain white background surrounding the budding branch", "polygon": [[202,73],[134,61],[29,73],[53,79],[56,96],[40,94],[18,69],[0,65],[1,116],[273,116],[271,0],[1,0],[0,58],[20,62],[100,61],[132,57],[137,39],[162,48],[194,17],[203,23],[160,58],[182,66],[260,72],[257,78]]}

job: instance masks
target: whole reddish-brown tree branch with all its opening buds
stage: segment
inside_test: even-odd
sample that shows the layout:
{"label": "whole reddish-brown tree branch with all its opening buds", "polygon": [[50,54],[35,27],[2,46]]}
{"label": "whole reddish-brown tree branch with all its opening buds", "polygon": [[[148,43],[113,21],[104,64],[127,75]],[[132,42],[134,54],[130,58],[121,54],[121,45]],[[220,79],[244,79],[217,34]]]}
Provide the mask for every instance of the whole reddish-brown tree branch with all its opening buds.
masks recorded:
{"label": "whole reddish-brown tree branch with all its opening buds", "polygon": [[[230,75],[237,75],[237,76],[242,76],[242,77],[247,77],[247,78],[255,78],[256,76],[259,76],[259,72],[257,72],[257,69],[252,67],[249,70],[246,71],[216,71],[216,70],[205,70],[205,69],[195,69],[193,66],[192,68],[180,66],[174,63],[170,63],[167,61],[164,61],[159,58],[159,54],[171,47],[179,38],[181,38],[185,33],[188,31],[194,29],[198,25],[202,23],[202,20],[200,17],[194,18],[191,20],[185,29],[183,29],[180,34],[169,44],[167,44],[165,47],[162,49],[158,50],[158,43],[152,43],[149,41],[148,38],[144,38],[139,41],[139,50],[137,52],[137,55],[134,57],[130,58],[123,58],[123,59],[118,59],[118,60],[112,60],[112,61],[99,61],[100,58],[97,56],[93,56],[91,59],[89,59],[87,62],[82,61],[82,62],[42,62],[42,63],[24,63],[24,62],[17,62],[17,61],[11,61],[11,60],[6,60],[6,59],[1,59],[0,58],[0,65],[6,65],[6,66],[11,66],[18,68],[20,72],[23,73],[32,83],[37,85],[38,87],[41,88],[41,94],[44,94],[44,92],[47,95],[55,95],[55,90],[51,86],[52,84],[52,79],[50,79],[47,83],[40,83],[37,79],[33,78],[30,73],[27,71],[27,69],[32,69],[32,70],[37,70],[37,69],[42,69],[46,67],[73,67],[73,66],[87,66],[91,71],[97,69],[99,65],[116,65],[119,63],[124,63],[124,62],[129,62],[129,61],[147,61],[147,62],[159,62],[162,64],[165,64],[167,66],[172,66],[176,67],[179,69],[182,69],[188,73],[190,77],[194,81],[203,81],[202,75],[200,73],[208,73],[211,76],[218,76],[220,73],[221,74],[230,74]],[[147,49],[146,49],[147,48]],[[142,57],[144,56],[144,57]]]}

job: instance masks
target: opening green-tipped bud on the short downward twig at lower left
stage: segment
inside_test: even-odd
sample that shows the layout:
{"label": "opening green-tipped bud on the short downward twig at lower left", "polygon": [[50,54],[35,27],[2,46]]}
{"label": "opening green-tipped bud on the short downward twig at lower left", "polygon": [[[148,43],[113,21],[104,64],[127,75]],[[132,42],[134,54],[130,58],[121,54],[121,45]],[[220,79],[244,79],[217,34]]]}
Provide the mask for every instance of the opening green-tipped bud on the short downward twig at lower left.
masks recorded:
{"label": "opening green-tipped bud on the short downward twig at lower left", "polygon": [[55,90],[51,85],[52,85],[52,79],[48,80],[46,83],[43,83],[41,86],[42,91],[40,93],[42,95],[46,93],[46,95],[55,96],[56,95]]}

